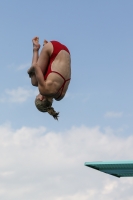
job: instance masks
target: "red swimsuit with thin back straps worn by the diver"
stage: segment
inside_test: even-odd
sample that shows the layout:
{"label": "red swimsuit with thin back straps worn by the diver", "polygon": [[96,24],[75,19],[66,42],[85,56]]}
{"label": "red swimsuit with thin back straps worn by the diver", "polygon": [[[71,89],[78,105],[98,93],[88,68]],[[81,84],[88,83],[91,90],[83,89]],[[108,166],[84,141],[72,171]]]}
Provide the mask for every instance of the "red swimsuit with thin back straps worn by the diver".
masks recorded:
{"label": "red swimsuit with thin back straps worn by the diver", "polygon": [[[53,53],[52,53],[52,55],[51,55],[51,57],[50,57],[49,65],[48,65],[47,71],[46,71],[46,73],[44,74],[44,79],[46,80],[46,79],[47,79],[47,76],[48,76],[50,73],[56,73],[56,74],[60,75],[60,76],[63,78],[64,83],[62,84],[61,88],[59,89],[59,91],[61,90],[61,93],[60,93],[60,95],[56,98],[56,100],[57,100],[57,99],[59,99],[59,98],[61,97],[62,92],[63,92],[63,89],[64,89],[64,86],[65,86],[65,84],[66,84],[67,81],[70,81],[70,79],[67,79],[67,80],[66,80],[60,73],[58,73],[58,72],[56,72],[56,71],[52,71],[51,65],[52,65],[52,62],[54,61],[55,57],[58,55],[58,53],[59,53],[61,50],[65,50],[65,51],[67,51],[69,54],[70,54],[70,52],[69,52],[68,48],[67,48],[65,45],[63,45],[63,44],[61,44],[61,43],[59,43],[59,42],[57,42],[57,41],[50,41],[50,42],[51,42],[52,45],[53,45]],[[59,91],[58,91],[58,92],[59,92]]]}

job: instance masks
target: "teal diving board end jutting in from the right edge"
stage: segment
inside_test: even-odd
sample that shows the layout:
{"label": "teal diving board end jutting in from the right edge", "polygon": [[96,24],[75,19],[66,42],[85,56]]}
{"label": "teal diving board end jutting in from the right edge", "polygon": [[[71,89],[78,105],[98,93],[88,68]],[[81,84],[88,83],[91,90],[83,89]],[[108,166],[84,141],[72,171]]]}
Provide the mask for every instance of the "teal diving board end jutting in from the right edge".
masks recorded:
{"label": "teal diving board end jutting in from the right edge", "polygon": [[133,177],[133,160],[132,161],[109,161],[109,162],[85,162],[87,167],[99,170],[112,176]]}

